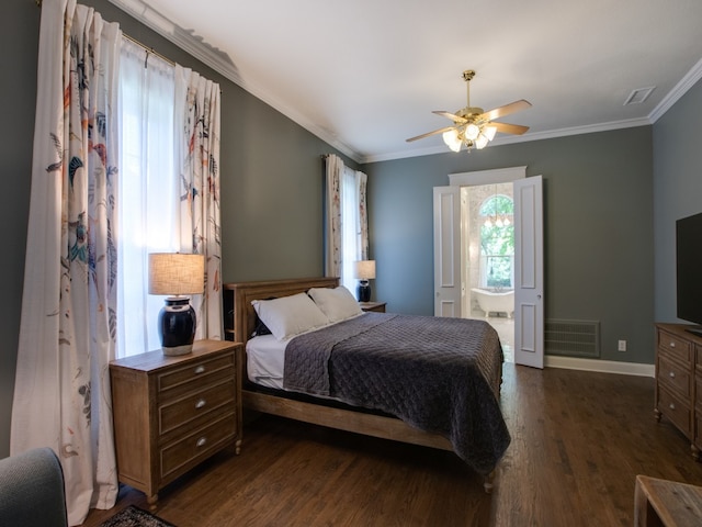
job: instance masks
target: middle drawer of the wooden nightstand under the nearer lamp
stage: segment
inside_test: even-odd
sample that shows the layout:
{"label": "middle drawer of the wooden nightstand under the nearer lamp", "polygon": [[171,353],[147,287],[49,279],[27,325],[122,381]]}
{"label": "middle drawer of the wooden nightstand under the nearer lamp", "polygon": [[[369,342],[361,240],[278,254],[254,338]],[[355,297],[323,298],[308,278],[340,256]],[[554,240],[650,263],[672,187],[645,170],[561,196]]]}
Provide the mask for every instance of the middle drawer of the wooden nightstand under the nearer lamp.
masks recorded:
{"label": "middle drawer of the wooden nightstand under the nearer lamp", "polygon": [[224,378],[217,384],[178,399],[158,408],[158,433],[165,436],[183,426],[196,427],[197,422],[207,418],[207,414],[222,407],[231,407],[236,397],[234,377]]}

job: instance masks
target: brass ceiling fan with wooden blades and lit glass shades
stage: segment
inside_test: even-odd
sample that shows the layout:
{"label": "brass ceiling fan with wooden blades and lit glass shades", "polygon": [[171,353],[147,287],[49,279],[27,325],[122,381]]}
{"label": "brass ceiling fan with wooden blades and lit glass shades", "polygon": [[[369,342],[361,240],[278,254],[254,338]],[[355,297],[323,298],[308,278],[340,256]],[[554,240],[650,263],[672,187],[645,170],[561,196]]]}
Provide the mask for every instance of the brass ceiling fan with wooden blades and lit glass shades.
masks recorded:
{"label": "brass ceiling fan with wooden blades and lit glass shades", "polygon": [[522,126],[520,124],[494,122],[494,120],[503,117],[510,113],[531,108],[531,103],[524,99],[510,102],[509,104],[495,108],[487,112],[484,112],[482,108],[471,106],[471,80],[473,80],[473,77],[475,77],[475,71],[472,69],[466,69],[463,72],[463,80],[466,82],[468,94],[468,104],[464,109],[455,113],[440,110],[432,112],[452,120],[453,126],[445,126],[434,130],[433,132],[418,135],[417,137],[410,137],[407,142],[423,139],[424,137],[435,134],[443,134],[444,143],[453,152],[458,152],[462,146],[471,150],[471,148],[485,148],[498,132],[521,135],[529,130],[529,126]]}

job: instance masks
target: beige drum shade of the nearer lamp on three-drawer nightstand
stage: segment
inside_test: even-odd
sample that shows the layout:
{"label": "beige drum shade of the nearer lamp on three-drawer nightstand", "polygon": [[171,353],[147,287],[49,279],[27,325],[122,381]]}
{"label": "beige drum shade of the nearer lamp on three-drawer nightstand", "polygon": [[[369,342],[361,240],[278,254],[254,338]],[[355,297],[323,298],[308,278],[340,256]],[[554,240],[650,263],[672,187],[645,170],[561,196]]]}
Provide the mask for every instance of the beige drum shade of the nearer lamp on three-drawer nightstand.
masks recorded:
{"label": "beige drum shade of the nearer lamp on three-drawer nightstand", "polygon": [[205,257],[181,253],[149,255],[149,293],[200,294],[205,289]]}

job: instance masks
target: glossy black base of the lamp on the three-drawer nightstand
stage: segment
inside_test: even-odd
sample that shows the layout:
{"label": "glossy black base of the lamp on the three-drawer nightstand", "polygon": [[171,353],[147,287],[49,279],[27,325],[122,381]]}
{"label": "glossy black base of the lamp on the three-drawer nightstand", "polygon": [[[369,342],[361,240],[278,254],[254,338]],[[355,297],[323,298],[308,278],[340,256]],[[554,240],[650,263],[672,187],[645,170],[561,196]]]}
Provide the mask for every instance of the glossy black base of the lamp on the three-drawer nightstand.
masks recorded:
{"label": "glossy black base of the lamp on the three-drawer nightstand", "polygon": [[195,310],[188,296],[169,296],[158,314],[161,350],[168,357],[188,355],[195,339]]}

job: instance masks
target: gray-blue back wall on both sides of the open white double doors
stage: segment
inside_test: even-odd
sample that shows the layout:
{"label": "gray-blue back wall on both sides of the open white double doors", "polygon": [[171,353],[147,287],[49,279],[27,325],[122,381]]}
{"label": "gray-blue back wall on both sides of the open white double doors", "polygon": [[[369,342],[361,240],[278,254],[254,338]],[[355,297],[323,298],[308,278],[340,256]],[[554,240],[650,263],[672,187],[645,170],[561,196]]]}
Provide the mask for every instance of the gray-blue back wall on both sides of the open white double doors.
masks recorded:
{"label": "gray-blue back wall on both sides of the open white double doors", "polygon": [[433,314],[432,187],[524,165],[544,178],[546,318],[599,321],[602,359],[652,363],[650,126],[366,165],[376,298]]}

